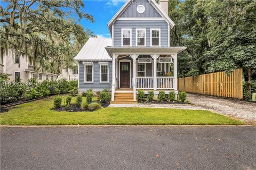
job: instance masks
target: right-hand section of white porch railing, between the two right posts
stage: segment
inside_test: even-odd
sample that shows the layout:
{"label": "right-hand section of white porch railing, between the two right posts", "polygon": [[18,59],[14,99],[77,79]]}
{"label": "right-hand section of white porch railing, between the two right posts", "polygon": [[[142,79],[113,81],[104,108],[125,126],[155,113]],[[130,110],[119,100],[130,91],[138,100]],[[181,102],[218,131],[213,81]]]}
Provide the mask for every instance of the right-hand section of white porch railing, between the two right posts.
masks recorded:
{"label": "right-hand section of white porch railing, between the two right posts", "polygon": [[174,89],[174,77],[157,77],[157,89]]}

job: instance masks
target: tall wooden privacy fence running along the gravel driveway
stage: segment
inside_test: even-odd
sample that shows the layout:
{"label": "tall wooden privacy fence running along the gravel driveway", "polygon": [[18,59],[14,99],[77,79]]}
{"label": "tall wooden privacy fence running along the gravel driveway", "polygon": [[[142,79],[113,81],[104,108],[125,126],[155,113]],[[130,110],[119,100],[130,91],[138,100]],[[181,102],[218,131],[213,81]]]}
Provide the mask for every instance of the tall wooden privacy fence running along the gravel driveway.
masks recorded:
{"label": "tall wooden privacy fence running along the gravel driveway", "polygon": [[229,76],[225,72],[179,78],[178,90],[194,94],[243,98],[243,70],[236,69]]}

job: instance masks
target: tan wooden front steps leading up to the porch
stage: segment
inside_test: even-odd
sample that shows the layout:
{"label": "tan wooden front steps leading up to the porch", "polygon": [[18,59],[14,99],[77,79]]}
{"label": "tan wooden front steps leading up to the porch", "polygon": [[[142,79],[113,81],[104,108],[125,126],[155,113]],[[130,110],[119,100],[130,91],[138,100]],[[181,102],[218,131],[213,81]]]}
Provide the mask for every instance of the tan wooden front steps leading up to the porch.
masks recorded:
{"label": "tan wooden front steps leading up to the porch", "polygon": [[115,101],[110,101],[110,104],[133,104],[133,103],[138,103],[137,99],[136,99],[136,101],[133,101],[133,92],[116,91],[114,100]]}

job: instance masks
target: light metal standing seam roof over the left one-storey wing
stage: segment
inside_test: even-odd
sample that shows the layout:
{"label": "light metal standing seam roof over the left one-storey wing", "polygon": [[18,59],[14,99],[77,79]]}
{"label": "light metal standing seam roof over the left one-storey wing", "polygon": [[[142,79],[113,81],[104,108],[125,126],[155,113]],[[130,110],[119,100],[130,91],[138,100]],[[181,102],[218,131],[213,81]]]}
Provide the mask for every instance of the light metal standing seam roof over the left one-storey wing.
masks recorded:
{"label": "light metal standing seam roof over the left one-storey wing", "polygon": [[105,49],[111,45],[111,38],[89,38],[74,60],[111,60]]}

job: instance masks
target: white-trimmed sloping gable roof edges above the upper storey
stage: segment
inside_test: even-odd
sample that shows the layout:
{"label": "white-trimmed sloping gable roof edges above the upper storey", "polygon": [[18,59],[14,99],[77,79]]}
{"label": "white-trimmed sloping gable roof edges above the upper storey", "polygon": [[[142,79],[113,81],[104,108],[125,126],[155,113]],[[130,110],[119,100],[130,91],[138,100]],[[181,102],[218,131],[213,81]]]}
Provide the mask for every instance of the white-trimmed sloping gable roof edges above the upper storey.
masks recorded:
{"label": "white-trimmed sloping gable roof edges above the upper storey", "polygon": [[[148,0],[149,3],[156,9],[156,11],[166,20],[167,23],[170,24],[170,27],[173,28],[175,23],[170,19],[168,14],[164,12],[164,10],[159,6],[155,0]],[[108,22],[108,27],[111,32],[111,27],[113,23],[117,20],[117,18],[122,15],[122,13],[127,9],[127,7],[130,6],[130,4],[133,2],[133,0],[127,0],[125,4],[119,9],[119,11],[113,16],[113,18]]]}

